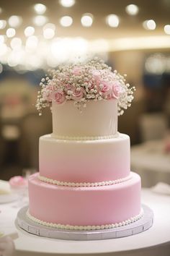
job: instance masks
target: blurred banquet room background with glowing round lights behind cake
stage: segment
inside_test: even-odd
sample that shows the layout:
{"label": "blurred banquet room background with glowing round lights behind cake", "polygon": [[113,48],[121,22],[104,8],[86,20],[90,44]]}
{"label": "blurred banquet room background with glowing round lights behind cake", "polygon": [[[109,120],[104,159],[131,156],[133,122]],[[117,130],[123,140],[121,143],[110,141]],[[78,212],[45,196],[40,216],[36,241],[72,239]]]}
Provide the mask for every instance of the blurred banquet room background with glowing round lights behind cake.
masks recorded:
{"label": "blurred banquet room background with glowing round lights behind cake", "polygon": [[128,75],[119,131],[133,171],[144,187],[170,184],[170,0],[0,1],[0,179],[38,171],[38,138],[52,132],[50,110],[35,109],[40,79],[79,56]]}

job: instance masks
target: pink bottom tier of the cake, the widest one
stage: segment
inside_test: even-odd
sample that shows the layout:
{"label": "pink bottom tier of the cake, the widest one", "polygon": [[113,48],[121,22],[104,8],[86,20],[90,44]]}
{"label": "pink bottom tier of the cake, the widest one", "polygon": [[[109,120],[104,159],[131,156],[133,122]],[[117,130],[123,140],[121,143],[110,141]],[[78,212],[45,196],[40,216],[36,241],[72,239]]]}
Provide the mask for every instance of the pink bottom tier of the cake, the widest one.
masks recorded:
{"label": "pink bottom tier of the cake, the widest one", "polygon": [[140,176],[120,184],[100,187],[67,187],[29,179],[29,218],[61,229],[108,229],[138,220]]}

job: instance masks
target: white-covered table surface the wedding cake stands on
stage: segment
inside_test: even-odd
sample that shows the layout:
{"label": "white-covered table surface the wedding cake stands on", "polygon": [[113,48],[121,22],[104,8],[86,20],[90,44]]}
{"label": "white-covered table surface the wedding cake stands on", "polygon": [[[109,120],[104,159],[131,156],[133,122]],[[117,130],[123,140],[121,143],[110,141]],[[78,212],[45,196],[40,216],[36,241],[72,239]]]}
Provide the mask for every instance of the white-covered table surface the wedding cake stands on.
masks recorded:
{"label": "white-covered table surface the wedding cake stands on", "polygon": [[[154,213],[154,223],[151,229],[134,236],[120,239],[108,239],[101,241],[64,241],[59,239],[47,239],[28,234],[14,225],[18,202],[0,205],[0,231],[10,234],[17,232],[19,237],[14,240],[17,252],[43,252],[45,255],[79,255],[79,254],[103,254],[112,252],[128,252],[134,249],[146,249],[158,247],[169,243],[170,249],[170,196],[160,195],[150,189],[142,189],[142,202],[148,205]],[[24,205],[27,202],[24,202]],[[20,254],[19,254],[20,255]],[[22,254],[21,254],[22,255]]]}

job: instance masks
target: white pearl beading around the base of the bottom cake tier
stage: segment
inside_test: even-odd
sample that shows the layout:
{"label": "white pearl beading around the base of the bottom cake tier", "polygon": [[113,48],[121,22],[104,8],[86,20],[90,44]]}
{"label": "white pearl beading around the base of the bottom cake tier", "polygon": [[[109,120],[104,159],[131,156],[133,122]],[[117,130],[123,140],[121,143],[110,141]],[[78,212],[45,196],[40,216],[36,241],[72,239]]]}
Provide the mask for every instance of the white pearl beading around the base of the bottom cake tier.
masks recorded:
{"label": "white pearl beading around the base of the bottom cake tier", "polygon": [[138,221],[140,218],[143,217],[143,209],[140,210],[140,213],[132,218],[129,218],[126,221],[122,221],[120,223],[112,223],[112,224],[106,224],[106,225],[100,225],[100,226],[72,226],[72,225],[63,225],[63,224],[57,224],[57,223],[50,223],[46,221],[40,221],[38,218],[35,218],[29,213],[29,210],[27,210],[27,217],[30,218],[31,221],[34,221],[35,223],[41,224],[43,226],[48,226],[51,228],[56,229],[70,229],[70,230],[99,230],[99,229],[114,229],[120,226],[126,226],[130,223],[133,223],[135,221]]}

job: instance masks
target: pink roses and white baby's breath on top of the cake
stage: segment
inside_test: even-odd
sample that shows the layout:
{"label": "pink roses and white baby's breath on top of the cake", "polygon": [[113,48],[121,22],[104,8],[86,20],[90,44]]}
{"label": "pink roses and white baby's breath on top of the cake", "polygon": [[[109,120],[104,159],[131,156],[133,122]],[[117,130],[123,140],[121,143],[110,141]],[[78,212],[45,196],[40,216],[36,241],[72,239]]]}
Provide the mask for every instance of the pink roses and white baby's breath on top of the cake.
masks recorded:
{"label": "pink roses and white baby's breath on top of the cake", "polygon": [[37,111],[50,106],[52,101],[61,104],[73,101],[82,110],[88,101],[117,99],[118,115],[124,113],[133,101],[134,87],[125,82],[126,74],[120,75],[99,58],[85,63],[61,64],[42,78],[37,95]]}

